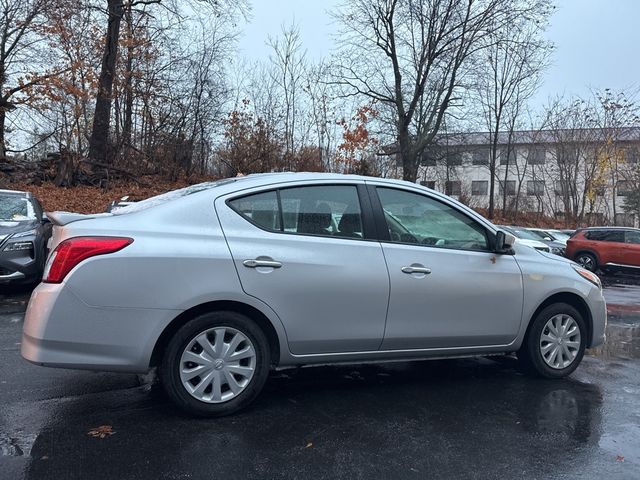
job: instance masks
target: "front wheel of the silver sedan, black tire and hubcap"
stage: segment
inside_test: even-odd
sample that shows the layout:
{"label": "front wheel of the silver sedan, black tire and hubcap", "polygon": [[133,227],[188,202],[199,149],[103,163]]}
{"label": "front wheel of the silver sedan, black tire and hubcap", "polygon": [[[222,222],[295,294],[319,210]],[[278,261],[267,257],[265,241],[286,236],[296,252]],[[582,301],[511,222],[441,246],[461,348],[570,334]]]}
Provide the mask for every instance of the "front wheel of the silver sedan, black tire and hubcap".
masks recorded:
{"label": "front wheel of the silver sedan, black tire and hubcap", "polygon": [[[560,327],[564,325],[567,333],[556,336],[549,329],[549,323],[552,323],[552,327],[554,324]],[[573,327],[576,327],[576,331],[572,334]],[[562,342],[556,344],[547,341],[551,338],[557,341],[561,339]],[[578,368],[586,343],[587,329],[580,312],[566,303],[555,303],[544,308],[533,319],[518,351],[518,360],[527,373],[545,378],[562,378]],[[554,349],[558,350],[555,357]]]}

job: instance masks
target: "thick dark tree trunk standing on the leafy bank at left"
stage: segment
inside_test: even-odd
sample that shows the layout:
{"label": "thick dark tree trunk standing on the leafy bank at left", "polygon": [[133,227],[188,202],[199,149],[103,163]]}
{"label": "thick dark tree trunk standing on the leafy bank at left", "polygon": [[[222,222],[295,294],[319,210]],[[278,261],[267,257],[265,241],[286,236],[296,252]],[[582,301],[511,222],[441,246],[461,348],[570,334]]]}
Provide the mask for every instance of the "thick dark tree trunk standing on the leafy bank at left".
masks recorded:
{"label": "thick dark tree trunk standing on the leafy bank at left", "polygon": [[109,164],[111,163],[111,158],[107,156],[107,147],[109,144],[109,121],[111,118],[111,93],[113,91],[113,79],[118,56],[123,0],[107,0],[107,4],[109,23],[104,55],[102,56],[96,109],[93,116],[93,129],[89,139],[89,158],[95,162]]}

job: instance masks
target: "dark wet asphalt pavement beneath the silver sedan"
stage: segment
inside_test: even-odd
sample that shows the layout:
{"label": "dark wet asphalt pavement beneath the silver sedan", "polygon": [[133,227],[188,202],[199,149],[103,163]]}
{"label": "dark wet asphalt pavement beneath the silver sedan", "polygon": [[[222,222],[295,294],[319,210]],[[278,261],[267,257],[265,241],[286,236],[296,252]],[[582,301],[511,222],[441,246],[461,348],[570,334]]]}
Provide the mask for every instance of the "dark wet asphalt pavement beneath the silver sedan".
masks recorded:
{"label": "dark wet asphalt pavement beneath the silver sedan", "polygon": [[[640,343],[640,281],[605,284]],[[633,349],[563,380],[510,357],[274,372],[251,408],[202,420],[149,378],[22,360],[28,296],[0,293],[0,479],[640,478]]]}

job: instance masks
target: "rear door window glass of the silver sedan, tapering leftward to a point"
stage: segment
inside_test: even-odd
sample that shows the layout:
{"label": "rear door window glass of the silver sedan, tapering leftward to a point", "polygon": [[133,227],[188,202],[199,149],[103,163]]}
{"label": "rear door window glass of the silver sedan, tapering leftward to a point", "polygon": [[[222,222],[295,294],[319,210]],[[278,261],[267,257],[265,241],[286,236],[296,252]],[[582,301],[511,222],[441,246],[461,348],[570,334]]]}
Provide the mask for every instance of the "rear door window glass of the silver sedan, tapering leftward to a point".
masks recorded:
{"label": "rear door window glass of the silver sedan, tapering leftward to a point", "polygon": [[364,238],[355,186],[293,187],[237,198],[231,208],[271,231],[342,238]]}

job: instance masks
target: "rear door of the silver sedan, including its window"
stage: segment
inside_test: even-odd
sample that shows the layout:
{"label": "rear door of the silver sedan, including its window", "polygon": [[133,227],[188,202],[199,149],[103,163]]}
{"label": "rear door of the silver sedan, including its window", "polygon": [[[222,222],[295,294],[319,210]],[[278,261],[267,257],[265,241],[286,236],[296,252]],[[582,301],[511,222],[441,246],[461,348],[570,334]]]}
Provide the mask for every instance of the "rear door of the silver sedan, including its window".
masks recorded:
{"label": "rear door of the silver sedan, including its window", "polygon": [[389,276],[363,191],[304,184],[216,201],[243,290],[280,317],[294,354],[380,347]]}

